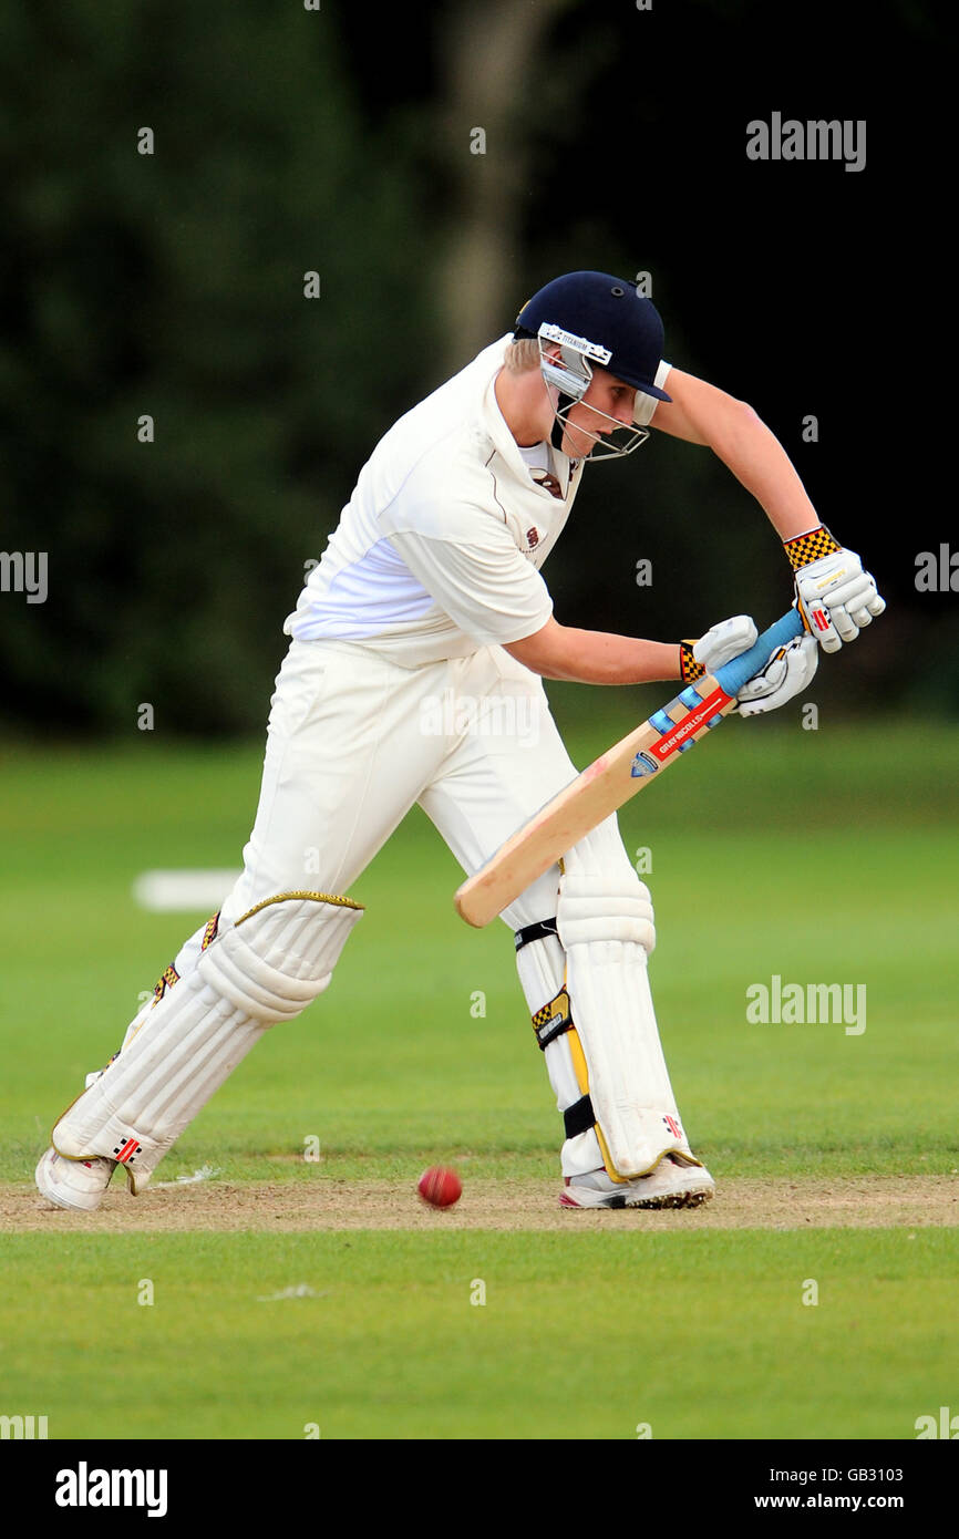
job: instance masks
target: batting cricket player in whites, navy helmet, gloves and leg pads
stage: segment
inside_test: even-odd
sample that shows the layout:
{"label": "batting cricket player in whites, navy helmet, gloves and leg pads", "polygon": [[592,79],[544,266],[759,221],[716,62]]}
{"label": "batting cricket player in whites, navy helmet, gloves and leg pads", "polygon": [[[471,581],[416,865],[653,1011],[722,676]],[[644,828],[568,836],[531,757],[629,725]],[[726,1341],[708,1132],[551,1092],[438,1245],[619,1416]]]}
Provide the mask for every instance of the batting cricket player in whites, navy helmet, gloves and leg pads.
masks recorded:
{"label": "batting cricket player in whites, navy helmet, gloves and leg pads", "polygon": [[[651,300],[611,274],[570,272],[379,442],[286,619],[243,873],[55,1123],[37,1167],[52,1203],[94,1210],[117,1165],[143,1191],[260,1037],[328,986],[363,913],[349,888],[414,803],[471,874],[574,779],[543,679],[688,682],[756,640],[747,616],[696,642],[556,617],[542,568],[586,465],[633,452],[650,429],[708,445],[784,542],[807,629],[737,696],[742,716],[805,689],[819,651],[882,613],[756,412],[662,354]],[[714,1183],[650,994],[650,893],[616,817],[502,917],[562,1116],[560,1202],[705,1202]]]}

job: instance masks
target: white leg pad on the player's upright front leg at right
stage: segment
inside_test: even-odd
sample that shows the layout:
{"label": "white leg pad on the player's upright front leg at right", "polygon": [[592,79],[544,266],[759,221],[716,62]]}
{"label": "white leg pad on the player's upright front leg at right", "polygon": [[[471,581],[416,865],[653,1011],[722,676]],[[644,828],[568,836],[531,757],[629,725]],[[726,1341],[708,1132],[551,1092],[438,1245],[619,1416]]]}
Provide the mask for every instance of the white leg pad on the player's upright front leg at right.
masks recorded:
{"label": "white leg pad on the player's upright front leg at right", "polygon": [[597,876],[568,862],[556,916],[610,1173],[642,1176],[670,1151],[697,1165],[679,1120],[650,994],[648,890],[633,871]]}

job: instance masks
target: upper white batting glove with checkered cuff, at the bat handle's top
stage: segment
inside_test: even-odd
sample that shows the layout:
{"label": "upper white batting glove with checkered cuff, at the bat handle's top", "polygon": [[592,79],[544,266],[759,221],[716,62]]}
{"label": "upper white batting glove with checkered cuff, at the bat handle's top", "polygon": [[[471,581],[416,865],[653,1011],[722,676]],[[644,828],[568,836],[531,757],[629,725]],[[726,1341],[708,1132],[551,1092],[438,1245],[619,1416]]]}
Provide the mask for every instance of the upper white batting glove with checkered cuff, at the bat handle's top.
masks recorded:
{"label": "upper white batting glove with checkered cuff, at the bat handle's top", "polygon": [[799,613],[824,653],[854,642],[885,609],[876,579],[862,569],[856,551],[837,545],[824,525],[785,540],[785,553],[796,574]]}

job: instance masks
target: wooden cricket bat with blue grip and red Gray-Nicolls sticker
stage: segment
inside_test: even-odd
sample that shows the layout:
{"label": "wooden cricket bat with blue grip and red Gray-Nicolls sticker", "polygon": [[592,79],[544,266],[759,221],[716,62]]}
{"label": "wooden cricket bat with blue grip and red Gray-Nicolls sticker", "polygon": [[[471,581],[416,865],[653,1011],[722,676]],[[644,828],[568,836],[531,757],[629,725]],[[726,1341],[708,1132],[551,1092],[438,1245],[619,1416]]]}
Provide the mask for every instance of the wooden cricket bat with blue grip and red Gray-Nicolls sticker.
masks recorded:
{"label": "wooden cricket bat with blue grip and red Gray-Nicolls sticker", "polygon": [[722,722],[736,705],[743,683],[765,668],[773,653],[802,633],[799,611],[788,609],[748,651],[714,674],[687,685],[648,722],[600,754],[463,882],[454,897],[460,919],[482,930],[502,914],[566,850]]}

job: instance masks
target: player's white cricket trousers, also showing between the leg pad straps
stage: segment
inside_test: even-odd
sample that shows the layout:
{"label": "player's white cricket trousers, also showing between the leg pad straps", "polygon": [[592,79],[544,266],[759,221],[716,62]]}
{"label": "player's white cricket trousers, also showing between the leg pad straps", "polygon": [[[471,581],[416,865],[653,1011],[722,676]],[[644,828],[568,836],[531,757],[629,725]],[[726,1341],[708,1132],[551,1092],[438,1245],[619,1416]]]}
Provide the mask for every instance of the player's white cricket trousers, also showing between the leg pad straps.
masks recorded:
{"label": "player's white cricket trousers, also showing between the leg pad straps", "polygon": [[[402,668],[354,643],[294,640],[276,680],[243,874],[220,923],[279,893],[348,896],[417,802],[471,874],[574,776],[542,680],[499,646]],[[613,871],[628,863],[614,817],[597,836]],[[503,911],[505,923],[553,919],[557,890],[553,866]],[[202,937],[203,926],[175,957],[180,977]],[[563,982],[559,942],[534,945],[537,966],[520,968],[531,1014]],[[580,1094],[565,1037],[545,1057],[563,1111]],[[563,1143],[563,1174],[600,1165],[594,1133]]]}

